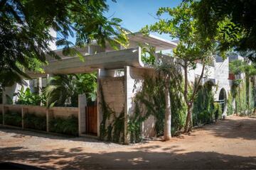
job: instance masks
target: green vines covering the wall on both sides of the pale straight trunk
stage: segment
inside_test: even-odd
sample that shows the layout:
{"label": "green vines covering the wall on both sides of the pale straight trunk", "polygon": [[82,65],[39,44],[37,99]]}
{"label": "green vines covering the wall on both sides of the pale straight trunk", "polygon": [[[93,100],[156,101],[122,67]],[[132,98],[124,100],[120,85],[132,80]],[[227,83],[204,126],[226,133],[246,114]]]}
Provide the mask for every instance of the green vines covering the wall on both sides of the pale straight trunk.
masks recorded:
{"label": "green vines covering the wall on both sides of the pale straight trunk", "polygon": [[[171,132],[175,135],[178,130],[183,128],[186,116],[186,106],[181,94],[182,77],[171,80],[170,98],[171,98]],[[134,97],[134,114],[129,118],[128,131],[130,132],[131,142],[140,142],[142,140],[142,123],[154,115],[156,120],[156,136],[164,135],[164,81],[161,77],[145,76],[142,81],[142,88]]]}

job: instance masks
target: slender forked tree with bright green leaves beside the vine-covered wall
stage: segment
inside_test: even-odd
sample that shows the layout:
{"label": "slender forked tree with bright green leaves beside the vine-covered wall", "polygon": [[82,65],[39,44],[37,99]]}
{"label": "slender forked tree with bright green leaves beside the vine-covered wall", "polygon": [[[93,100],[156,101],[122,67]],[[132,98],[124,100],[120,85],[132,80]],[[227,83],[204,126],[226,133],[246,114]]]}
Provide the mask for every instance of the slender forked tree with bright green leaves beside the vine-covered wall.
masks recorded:
{"label": "slender forked tree with bright green leaves beside the vine-covered wall", "polygon": [[[171,38],[178,39],[178,45],[174,49],[174,57],[180,59],[178,64],[184,70],[184,90],[183,98],[187,106],[186,128],[184,132],[188,132],[193,127],[192,108],[193,102],[198,91],[198,85],[203,78],[206,64],[210,64],[213,60],[215,52],[215,39],[205,38],[201,36],[198,19],[193,9],[193,1],[183,1],[175,8],[159,8],[156,16],[159,20],[151,26],[142,28],[142,32],[148,34],[155,32],[159,34],[166,33]],[[195,82],[195,88],[192,94],[188,94],[190,86],[188,81],[188,70],[196,69],[198,62],[201,62],[201,74],[198,81]]]}

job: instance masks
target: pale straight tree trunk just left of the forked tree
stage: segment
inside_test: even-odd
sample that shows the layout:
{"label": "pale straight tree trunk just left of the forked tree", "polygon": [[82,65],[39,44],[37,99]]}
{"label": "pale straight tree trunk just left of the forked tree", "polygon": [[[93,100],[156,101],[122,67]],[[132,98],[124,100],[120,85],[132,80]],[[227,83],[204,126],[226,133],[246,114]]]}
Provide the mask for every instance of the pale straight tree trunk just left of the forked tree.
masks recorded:
{"label": "pale straight tree trunk just left of the forked tree", "polygon": [[165,86],[165,101],[166,101],[166,111],[165,111],[165,123],[164,123],[164,140],[171,140],[171,101],[170,101],[170,91],[169,91],[169,81],[166,79]]}

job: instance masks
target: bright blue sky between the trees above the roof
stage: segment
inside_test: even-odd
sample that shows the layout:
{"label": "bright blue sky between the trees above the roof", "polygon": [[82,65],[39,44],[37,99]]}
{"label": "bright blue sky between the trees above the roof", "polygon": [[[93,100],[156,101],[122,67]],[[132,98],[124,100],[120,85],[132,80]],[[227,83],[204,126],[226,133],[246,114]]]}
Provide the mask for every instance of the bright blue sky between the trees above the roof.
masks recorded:
{"label": "bright blue sky between the trees above the roof", "polygon": [[[142,27],[156,22],[154,16],[156,16],[159,7],[175,7],[180,3],[181,0],[117,0],[116,3],[107,0],[109,11],[105,13],[105,16],[107,18],[121,18],[122,27],[137,32]],[[158,36],[171,40],[168,35]],[[75,42],[75,38],[70,38],[70,41]]]}

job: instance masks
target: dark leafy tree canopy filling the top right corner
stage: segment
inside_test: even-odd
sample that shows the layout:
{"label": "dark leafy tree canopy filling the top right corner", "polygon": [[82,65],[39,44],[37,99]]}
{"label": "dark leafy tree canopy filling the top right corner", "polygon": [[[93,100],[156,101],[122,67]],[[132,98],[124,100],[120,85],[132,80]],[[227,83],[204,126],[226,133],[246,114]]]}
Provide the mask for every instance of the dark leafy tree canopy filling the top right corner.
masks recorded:
{"label": "dark leafy tree canopy filling the top right corner", "polygon": [[193,6],[203,36],[212,39],[218,35],[222,51],[251,51],[248,57],[252,61],[256,61],[255,8],[254,0],[200,0]]}

